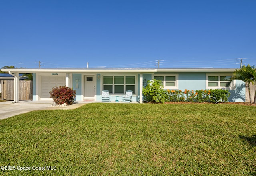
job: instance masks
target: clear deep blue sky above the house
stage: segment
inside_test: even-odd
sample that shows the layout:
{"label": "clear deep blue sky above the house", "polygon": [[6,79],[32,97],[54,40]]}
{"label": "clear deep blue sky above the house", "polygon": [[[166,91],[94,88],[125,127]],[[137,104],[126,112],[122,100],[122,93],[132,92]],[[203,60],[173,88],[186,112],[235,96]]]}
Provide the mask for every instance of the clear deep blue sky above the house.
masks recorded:
{"label": "clear deep blue sky above the house", "polygon": [[[0,68],[256,65],[255,0],[0,0]],[[238,63],[238,64],[236,64]]]}

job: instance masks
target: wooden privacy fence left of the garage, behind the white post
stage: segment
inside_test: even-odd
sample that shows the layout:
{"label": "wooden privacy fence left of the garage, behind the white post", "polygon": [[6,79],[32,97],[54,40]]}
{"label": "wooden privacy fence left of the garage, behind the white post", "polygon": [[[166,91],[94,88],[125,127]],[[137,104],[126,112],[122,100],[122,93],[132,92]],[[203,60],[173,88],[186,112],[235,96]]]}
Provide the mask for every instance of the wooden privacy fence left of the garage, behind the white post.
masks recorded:
{"label": "wooden privacy fence left of the garage, behind the white post", "polygon": [[[2,80],[2,100],[14,100],[13,98],[13,80]],[[19,100],[33,99],[33,81],[19,81]]]}

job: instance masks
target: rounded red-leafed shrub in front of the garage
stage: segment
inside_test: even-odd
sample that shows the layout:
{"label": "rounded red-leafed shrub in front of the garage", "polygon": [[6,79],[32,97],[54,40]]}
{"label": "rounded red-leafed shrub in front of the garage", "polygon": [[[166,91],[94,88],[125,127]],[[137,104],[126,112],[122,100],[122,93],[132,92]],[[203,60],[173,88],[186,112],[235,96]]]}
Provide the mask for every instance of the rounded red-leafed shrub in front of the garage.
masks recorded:
{"label": "rounded red-leafed shrub in front of the garage", "polygon": [[67,86],[56,86],[52,88],[52,91],[50,92],[50,98],[53,98],[53,101],[56,104],[73,104],[75,97],[76,90],[73,90]]}

